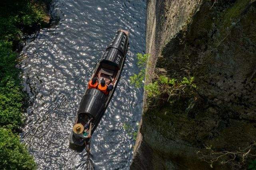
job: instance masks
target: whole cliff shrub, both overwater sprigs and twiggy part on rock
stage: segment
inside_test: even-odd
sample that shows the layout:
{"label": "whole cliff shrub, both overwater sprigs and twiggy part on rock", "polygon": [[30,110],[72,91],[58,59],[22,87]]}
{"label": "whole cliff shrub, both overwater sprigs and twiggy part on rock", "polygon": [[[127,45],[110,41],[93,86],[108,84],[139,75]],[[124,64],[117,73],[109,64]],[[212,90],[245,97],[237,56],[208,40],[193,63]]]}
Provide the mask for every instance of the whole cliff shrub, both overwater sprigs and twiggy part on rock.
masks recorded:
{"label": "whole cliff shrub, both overwater sprigs and twiggy part on rock", "polygon": [[[141,70],[138,74],[130,77],[131,83],[135,87],[142,87],[145,79],[145,64],[149,54],[137,54],[137,65]],[[163,102],[169,102],[171,105],[181,102],[186,104],[184,114],[187,116],[192,112],[198,103],[197,86],[194,83],[194,77],[183,77],[183,79],[169,78],[160,75],[158,79],[145,85],[149,106],[161,106]]]}

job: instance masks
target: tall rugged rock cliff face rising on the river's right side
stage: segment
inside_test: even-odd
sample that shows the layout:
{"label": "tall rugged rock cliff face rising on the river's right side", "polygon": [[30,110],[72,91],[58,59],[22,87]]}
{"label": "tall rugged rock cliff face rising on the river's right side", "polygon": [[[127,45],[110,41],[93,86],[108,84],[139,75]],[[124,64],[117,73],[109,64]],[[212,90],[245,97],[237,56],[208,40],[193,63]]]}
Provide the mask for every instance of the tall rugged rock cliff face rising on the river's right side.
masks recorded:
{"label": "tall rugged rock cliff face rising on the river's right side", "polygon": [[145,93],[131,169],[246,169],[255,147],[244,161],[196,153],[256,141],[256,1],[148,0],[146,44],[146,84],[193,76],[201,102],[183,116],[183,103],[152,108]]}

